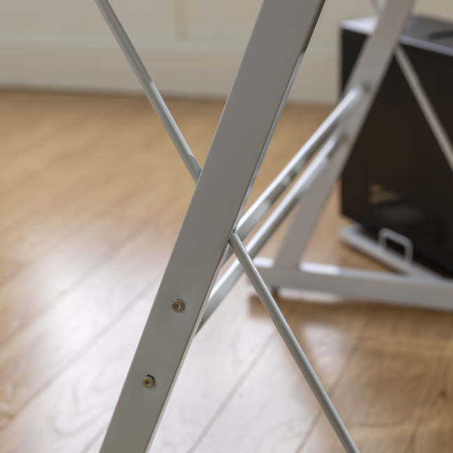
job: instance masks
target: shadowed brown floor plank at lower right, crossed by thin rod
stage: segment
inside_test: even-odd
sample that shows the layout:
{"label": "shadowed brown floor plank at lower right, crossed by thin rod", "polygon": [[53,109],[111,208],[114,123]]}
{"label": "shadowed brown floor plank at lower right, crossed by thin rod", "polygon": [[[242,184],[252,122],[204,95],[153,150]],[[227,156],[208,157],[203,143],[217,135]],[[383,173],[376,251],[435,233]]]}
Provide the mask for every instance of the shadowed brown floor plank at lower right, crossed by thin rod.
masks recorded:
{"label": "shadowed brown floor plank at lower right, crossed by thin rod", "polygon": [[[451,329],[451,314],[376,308],[332,395],[360,452],[407,451]],[[341,451],[325,417],[300,450]]]}

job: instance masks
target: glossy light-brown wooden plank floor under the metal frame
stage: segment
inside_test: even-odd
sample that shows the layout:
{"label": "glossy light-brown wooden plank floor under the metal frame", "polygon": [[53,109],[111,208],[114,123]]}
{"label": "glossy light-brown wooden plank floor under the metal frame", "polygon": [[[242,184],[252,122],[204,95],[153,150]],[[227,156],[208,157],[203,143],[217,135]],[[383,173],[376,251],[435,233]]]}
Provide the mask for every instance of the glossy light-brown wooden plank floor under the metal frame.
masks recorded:
{"label": "glossy light-brown wooden plank floor under the metal frame", "polygon": [[[222,102],[169,108],[203,162]],[[252,200],[328,112],[286,107]],[[0,452],[97,453],[194,184],[144,99],[0,93],[0,118]],[[308,258],[378,268],[344,224],[335,192]],[[279,305],[361,452],[452,452],[451,314]],[[342,451],[245,279],[195,338],[151,451]]]}

